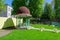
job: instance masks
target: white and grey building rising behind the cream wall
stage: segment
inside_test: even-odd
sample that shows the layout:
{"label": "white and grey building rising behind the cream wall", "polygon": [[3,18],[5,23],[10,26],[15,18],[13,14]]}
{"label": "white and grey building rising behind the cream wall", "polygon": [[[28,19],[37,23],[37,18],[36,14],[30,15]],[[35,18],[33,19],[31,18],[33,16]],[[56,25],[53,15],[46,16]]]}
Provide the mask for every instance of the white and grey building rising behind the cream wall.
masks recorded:
{"label": "white and grey building rising behind the cream wall", "polygon": [[5,11],[2,11],[2,13],[0,13],[0,17],[11,17],[13,8],[7,4],[5,8],[6,8]]}

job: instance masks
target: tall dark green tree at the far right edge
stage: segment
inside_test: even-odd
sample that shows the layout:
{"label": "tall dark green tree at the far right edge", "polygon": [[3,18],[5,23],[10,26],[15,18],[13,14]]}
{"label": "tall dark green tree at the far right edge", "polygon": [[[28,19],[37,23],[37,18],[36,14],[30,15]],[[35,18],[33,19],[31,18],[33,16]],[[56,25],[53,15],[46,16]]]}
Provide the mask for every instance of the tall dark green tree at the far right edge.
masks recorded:
{"label": "tall dark green tree at the far right edge", "polygon": [[56,19],[60,21],[60,0],[54,0],[54,9],[56,13]]}

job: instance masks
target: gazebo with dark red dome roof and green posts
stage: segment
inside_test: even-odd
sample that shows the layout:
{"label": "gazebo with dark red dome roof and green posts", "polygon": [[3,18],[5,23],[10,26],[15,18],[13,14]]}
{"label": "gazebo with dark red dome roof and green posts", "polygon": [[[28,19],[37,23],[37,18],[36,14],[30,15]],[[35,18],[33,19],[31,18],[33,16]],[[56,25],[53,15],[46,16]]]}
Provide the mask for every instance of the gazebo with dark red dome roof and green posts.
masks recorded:
{"label": "gazebo with dark red dome roof and green posts", "polygon": [[30,26],[30,11],[27,7],[22,6],[17,10],[16,24],[17,28],[29,28]]}

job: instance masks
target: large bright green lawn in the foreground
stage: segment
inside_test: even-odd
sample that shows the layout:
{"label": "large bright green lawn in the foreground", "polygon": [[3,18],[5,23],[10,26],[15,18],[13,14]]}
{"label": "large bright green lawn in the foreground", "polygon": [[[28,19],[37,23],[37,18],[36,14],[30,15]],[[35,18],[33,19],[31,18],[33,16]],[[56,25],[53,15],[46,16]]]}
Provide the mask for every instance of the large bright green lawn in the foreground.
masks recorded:
{"label": "large bright green lawn in the foreground", "polygon": [[0,40],[60,40],[60,33],[41,32],[37,30],[13,30]]}

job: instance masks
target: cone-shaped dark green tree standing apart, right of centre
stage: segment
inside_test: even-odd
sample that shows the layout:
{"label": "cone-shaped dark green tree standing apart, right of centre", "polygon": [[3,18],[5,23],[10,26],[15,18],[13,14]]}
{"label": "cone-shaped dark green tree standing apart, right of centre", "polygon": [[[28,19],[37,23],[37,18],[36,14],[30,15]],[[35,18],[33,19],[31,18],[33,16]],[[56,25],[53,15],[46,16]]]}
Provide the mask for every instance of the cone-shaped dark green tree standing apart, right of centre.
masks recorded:
{"label": "cone-shaped dark green tree standing apart, right of centre", "polygon": [[53,18],[54,18],[54,12],[52,10],[52,5],[46,3],[41,19],[51,21]]}

